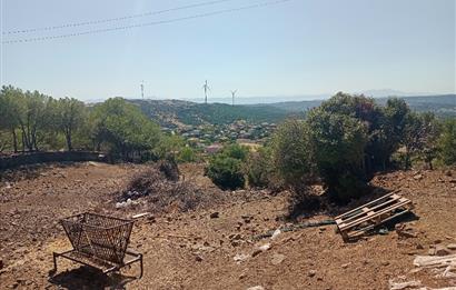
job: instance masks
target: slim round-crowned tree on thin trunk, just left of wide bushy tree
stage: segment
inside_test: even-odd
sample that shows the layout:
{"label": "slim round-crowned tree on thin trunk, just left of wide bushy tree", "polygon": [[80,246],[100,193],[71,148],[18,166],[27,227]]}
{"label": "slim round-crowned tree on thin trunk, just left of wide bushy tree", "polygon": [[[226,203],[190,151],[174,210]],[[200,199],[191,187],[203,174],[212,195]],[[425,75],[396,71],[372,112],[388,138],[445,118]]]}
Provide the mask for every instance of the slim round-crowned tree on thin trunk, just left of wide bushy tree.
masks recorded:
{"label": "slim round-crowned tree on thin trunk, just left of wide bushy tree", "polygon": [[65,134],[67,148],[72,150],[72,136],[75,131],[83,126],[87,118],[86,106],[77,99],[65,98],[57,101],[57,126]]}

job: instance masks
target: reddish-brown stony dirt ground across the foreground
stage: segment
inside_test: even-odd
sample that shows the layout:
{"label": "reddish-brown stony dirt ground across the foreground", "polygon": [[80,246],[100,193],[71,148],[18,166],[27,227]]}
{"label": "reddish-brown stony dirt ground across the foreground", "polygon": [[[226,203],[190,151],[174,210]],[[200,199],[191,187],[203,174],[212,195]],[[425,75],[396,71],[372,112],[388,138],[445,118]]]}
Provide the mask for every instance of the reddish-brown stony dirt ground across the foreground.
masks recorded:
{"label": "reddish-brown stony dirt ground across the foreground", "polygon": [[[388,281],[403,276],[420,280],[423,287],[456,286],[456,279],[436,278],[413,266],[416,254],[456,242],[455,170],[396,171],[373,180],[413,200],[418,219],[407,227],[416,238],[390,231],[345,243],[335,226],[326,226],[257,240],[255,236],[286,226],[287,194],[224,192],[229,198],[215,208],[149,214],[136,222],[130,247],[145,254],[141,279],[132,278],[135,266],[105,277],[65,261],[50,279],[52,251],[71,248],[58,219],[87,210],[119,217],[141,213],[140,207],[116,210],[112,199],[143,168],[86,162],[3,173],[0,289],[389,289]],[[181,171],[205,190],[218,190],[200,166]],[[211,218],[215,212],[218,218]],[[300,222],[331,218],[323,211]]]}

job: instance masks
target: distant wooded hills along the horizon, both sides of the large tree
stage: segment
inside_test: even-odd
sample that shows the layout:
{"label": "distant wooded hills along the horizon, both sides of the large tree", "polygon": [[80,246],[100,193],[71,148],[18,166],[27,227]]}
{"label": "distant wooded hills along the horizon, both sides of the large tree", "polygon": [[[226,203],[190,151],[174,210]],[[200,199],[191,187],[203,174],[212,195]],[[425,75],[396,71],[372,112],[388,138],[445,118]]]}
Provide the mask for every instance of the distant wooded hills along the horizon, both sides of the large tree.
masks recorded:
{"label": "distant wooded hills along the horizon, both sides of the large tree", "polygon": [[[456,117],[456,94],[398,97],[415,111],[430,111],[439,117]],[[388,98],[376,98],[385,104]],[[238,104],[199,103],[184,100],[128,100],[163,127],[221,124],[236,120],[252,123],[280,122],[287,117],[304,116],[324,100],[299,100],[271,103]]]}

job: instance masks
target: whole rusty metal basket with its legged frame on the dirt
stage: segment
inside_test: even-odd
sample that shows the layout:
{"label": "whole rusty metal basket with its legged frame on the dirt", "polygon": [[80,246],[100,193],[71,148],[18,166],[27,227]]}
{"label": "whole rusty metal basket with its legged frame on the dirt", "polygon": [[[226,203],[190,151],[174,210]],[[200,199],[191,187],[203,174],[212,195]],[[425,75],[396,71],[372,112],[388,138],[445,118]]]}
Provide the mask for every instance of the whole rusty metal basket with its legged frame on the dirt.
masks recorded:
{"label": "whole rusty metal basket with its legged frame on the dirt", "polygon": [[139,261],[142,277],[142,254],[128,249],[132,220],[85,212],[61,219],[60,223],[73,249],[53,253],[54,272],[57,258],[63,257],[105,273]]}

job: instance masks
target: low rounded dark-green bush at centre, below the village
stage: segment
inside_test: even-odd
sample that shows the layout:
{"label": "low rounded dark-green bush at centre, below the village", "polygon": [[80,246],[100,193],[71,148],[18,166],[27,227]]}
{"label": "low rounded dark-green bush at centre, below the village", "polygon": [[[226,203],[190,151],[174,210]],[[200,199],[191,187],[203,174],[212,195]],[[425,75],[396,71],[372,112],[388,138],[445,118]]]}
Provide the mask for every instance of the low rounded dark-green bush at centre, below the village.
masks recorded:
{"label": "low rounded dark-green bush at centre, below the village", "polygon": [[235,190],[244,188],[244,162],[248,156],[248,149],[238,144],[231,144],[215,154],[206,168],[206,174],[219,188]]}

